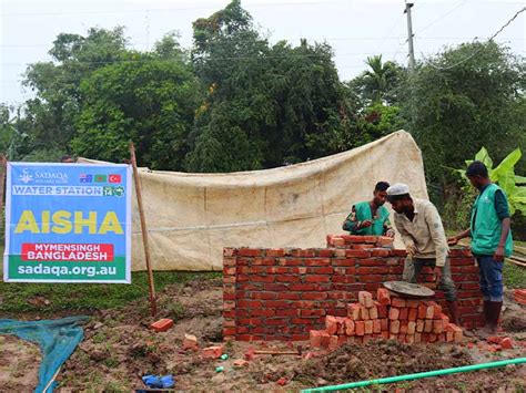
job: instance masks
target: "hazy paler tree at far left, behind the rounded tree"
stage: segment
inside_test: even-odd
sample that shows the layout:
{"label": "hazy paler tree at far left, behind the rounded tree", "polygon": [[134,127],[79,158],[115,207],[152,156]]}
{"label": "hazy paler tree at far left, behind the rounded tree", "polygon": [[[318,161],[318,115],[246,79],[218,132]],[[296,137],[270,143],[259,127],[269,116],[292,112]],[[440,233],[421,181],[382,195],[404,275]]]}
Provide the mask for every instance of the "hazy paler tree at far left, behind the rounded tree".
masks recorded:
{"label": "hazy paler tree at far left, behind the rounded tree", "polygon": [[53,60],[28,68],[23,83],[37,93],[26,103],[26,122],[34,148],[68,146],[82,106],[81,81],[121,60],[125,42],[122,28],[90,29],[87,37],[61,33],[49,51]]}

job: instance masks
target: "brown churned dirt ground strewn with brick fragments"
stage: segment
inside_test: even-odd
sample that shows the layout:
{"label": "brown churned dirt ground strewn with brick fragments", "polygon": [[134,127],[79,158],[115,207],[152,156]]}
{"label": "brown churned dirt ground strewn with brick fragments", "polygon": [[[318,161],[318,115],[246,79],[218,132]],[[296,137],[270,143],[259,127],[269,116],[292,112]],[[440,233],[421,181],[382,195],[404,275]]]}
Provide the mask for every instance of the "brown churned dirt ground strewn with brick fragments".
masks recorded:
{"label": "brown churned dirt ground strewn with brick fragments", "polygon": [[[508,306],[504,327],[517,345],[496,350],[494,344],[474,342],[462,345],[413,344],[391,341],[347,344],[338,350],[312,352],[306,359],[307,343],[242,343],[224,347],[225,361],[203,359],[201,352],[183,351],[184,333],[195,334],[201,347],[221,343],[222,286],[220,280],[193,281],[184,287],[168,287],[159,294],[159,318],[172,318],[174,327],[155,333],[148,327],[148,303],[143,300],[123,309],[99,312],[85,327],[85,338],[59,374],[58,392],[130,392],[143,389],[144,374],[173,374],[175,389],[183,391],[299,391],[301,389],[352,381],[445,369],[472,363],[524,356],[526,352],[526,309]],[[12,339],[3,339],[11,342]],[[6,341],[8,340],[8,341]],[[0,344],[0,384],[20,383],[20,371],[27,370],[34,348],[13,341]],[[254,349],[295,349],[303,345],[304,355],[259,355],[246,366],[236,368],[249,347]],[[14,347],[13,347],[14,345]],[[6,348],[9,348],[6,351]],[[13,354],[17,352],[17,355]],[[3,366],[4,359],[16,359]],[[26,360],[24,360],[26,359]],[[222,372],[216,368],[222,366]],[[34,374],[34,370],[32,370]],[[19,375],[19,376],[17,376]],[[28,374],[24,372],[23,379]],[[34,381],[34,380],[33,380]],[[17,385],[14,385],[17,386]],[[28,384],[10,391],[23,392]],[[526,391],[526,365],[507,366],[487,372],[473,372],[444,378],[376,386],[381,391],[407,392],[517,392]],[[0,390],[1,391],[1,390]],[[31,390],[28,390],[31,391]]]}

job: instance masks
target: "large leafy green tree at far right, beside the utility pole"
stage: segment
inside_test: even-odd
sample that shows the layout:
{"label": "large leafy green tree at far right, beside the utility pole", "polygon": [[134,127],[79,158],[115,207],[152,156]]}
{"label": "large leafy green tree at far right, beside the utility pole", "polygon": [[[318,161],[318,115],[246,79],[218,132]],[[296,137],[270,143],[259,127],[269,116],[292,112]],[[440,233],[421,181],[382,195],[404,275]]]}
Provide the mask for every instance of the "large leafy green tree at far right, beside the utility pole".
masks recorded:
{"label": "large leafy green tree at far right, beside the utility pole", "polygon": [[483,144],[497,157],[524,145],[525,76],[523,62],[495,42],[448,49],[409,75],[401,106],[431,185],[443,189],[452,182],[444,164],[459,167]]}

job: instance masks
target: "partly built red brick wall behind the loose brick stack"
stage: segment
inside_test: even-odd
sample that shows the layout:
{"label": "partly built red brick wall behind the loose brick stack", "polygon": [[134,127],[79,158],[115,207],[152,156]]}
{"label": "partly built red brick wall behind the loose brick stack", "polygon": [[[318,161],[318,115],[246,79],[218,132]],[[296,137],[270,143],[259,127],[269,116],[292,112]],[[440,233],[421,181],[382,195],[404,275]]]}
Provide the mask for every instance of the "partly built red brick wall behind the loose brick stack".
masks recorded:
{"label": "partly built red brick wall behind the loose brick stack", "polygon": [[[346,317],[347,303],[358,291],[375,292],[384,281],[401,280],[405,250],[375,236],[327,236],[327,248],[223,250],[223,335],[225,339],[308,340],[308,331],[322,329],[325,316]],[[461,322],[481,325],[482,294],[478,268],[468,250],[451,255]],[[435,288],[432,269],[419,280]],[[442,291],[435,300],[445,311]]]}

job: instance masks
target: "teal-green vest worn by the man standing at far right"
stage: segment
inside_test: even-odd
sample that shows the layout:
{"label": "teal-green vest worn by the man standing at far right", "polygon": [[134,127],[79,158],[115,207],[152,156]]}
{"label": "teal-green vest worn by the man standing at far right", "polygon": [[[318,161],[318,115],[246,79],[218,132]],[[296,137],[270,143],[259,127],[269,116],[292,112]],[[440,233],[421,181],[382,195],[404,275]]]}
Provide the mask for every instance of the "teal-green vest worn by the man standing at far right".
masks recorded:
{"label": "teal-green vest worn by the man standing at far right", "polygon": [[[500,241],[502,221],[495,209],[495,193],[499,190],[496,184],[488,185],[478,197],[472,209],[472,252],[475,255],[493,256]],[[502,190],[502,189],[500,189]],[[503,193],[504,194],[504,193]],[[506,195],[504,194],[504,197]],[[506,198],[507,201],[507,198]],[[513,252],[512,230],[509,230],[504,254],[509,257]]]}

